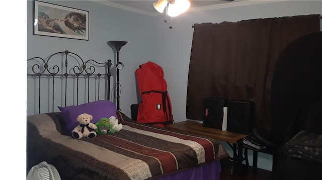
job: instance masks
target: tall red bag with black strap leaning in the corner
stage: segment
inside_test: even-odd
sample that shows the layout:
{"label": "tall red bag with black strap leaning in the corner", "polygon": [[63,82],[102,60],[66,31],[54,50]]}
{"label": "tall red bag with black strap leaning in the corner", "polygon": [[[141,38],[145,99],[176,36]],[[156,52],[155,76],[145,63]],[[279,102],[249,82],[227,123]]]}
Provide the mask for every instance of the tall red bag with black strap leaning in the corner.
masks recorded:
{"label": "tall red bag with black strap leaning in the corner", "polygon": [[148,61],[135,70],[135,75],[142,98],[137,122],[161,127],[173,123],[172,105],[162,67]]}

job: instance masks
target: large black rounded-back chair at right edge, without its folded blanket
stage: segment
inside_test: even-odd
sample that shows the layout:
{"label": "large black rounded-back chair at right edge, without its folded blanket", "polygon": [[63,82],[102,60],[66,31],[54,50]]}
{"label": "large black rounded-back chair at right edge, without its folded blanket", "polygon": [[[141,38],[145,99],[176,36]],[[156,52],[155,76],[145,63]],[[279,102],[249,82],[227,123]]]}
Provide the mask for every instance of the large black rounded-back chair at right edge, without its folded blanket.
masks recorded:
{"label": "large black rounded-back chair at right edge, without its folded blanket", "polygon": [[279,148],[273,179],[322,179],[322,162],[295,158],[286,149],[301,130],[322,134],[322,32],[294,40],[280,54],[270,112],[271,132],[262,137]]}

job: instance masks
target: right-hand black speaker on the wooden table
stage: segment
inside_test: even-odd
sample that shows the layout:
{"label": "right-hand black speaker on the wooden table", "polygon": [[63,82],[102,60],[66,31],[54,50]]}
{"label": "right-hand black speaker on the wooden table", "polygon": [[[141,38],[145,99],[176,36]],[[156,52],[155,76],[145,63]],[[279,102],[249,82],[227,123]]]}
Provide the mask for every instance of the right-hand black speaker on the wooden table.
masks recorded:
{"label": "right-hand black speaker on the wooden table", "polygon": [[253,129],[254,102],[228,100],[227,107],[227,131],[249,134]]}

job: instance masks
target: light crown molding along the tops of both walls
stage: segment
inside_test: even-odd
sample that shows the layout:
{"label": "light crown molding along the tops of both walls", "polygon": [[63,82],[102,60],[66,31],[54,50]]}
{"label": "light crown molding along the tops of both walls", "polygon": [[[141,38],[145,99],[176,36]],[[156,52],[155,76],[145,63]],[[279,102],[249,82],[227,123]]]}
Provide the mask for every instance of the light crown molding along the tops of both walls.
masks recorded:
{"label": "light crown molding along the tops of both walls", "polygon": [[[135,13],[139,13],[139,14],[143,14],[143,15],[148,15],[148,16],[159,16],[159,15],[163,15],[163,13],[151,13],[151,12],[147,12],[144,10],[140,10],[137,8],[132,8],[132,7],[128,7],[125,5],[121,5],[121,4],[117,4],[117,3],[113,3],[107,0],[101,0],[101,1],[97,1],[97,0],[89,0],[91,2],[94,3],[99,3],[102,5],[106,5],[106,6],[110,6],[110,7],[114,7],[114,8],[119,8],[122,10],[127,10],[127,11],[131,11],[131,12],[135,12]],[[230,3],[225,3],[225,4],[220,4],[220,5],[210,5],[210,6],[203,6],[203,7],[198,7],[198,8],[190,8],[187,12],[198,12],[198,11],[207,11],[207,10],[215,10],[215,9],[222,9],[222,8],[233,8],[233,7],[240,7],[240,6],[250,6],[250,5],[258,5],[258,4],[264,4],[264,3],[275,3],[275,2],[281,2],[281,1],[288,1],[288,0],[245,0],[245,1],[235,1],[235,2],[230,2]]]}

